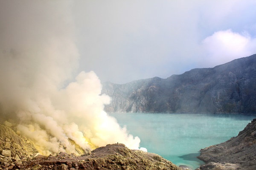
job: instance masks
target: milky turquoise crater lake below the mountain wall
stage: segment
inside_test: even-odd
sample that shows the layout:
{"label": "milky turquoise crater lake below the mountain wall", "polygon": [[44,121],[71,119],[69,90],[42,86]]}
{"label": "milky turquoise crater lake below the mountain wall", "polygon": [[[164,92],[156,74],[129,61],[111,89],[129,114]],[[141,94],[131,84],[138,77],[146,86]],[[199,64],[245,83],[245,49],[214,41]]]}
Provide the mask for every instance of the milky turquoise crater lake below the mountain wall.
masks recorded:
{"label": "milky turquoise crater lake below the mountain wall", "polygon": [[110,113],[133,136],[140,147],[157,153],[174,164],[196,169],[204,164],[196,158],[199,150],[225,142],[256,116],[234,114]]}

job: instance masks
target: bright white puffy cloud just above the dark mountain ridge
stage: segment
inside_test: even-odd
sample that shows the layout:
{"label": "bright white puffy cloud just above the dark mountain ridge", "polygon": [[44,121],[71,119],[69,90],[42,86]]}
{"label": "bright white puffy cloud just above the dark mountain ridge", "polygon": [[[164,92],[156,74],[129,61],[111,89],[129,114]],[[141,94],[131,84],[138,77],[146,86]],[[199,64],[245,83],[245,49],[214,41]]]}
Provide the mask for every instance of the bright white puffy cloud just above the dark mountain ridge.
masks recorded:
{"label": "bright white puffy cloud just above the dark mountain ridge", "polygon": [[239,34],[231,29],[217,31],[202,42],[207,66],[215,66],[236,58],[246,57],[256,52],[256,40],[249,34]]}

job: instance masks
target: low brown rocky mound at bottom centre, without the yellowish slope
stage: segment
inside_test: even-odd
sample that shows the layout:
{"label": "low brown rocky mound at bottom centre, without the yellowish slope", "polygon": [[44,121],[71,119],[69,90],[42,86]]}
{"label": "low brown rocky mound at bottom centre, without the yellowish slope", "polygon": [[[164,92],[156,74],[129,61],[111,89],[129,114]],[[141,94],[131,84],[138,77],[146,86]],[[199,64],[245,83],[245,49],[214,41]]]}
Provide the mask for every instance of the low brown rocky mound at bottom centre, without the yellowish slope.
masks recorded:
{"label": "low brown rocky mound at bottom centre, without the yellowish slope", "polygon": [[108,144],[90,154],[76,156],[59,153],[40,156],[23,164],[24,169],[44,170],[181,170],[154,153],[130,150],[124,144]]}

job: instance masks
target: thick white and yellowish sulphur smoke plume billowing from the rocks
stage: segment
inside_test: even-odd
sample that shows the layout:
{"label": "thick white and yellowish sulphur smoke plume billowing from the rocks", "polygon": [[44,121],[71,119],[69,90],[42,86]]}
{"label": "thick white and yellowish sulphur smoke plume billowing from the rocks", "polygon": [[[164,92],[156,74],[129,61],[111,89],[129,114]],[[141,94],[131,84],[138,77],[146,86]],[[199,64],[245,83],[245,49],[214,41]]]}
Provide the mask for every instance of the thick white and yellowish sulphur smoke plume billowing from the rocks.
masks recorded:
{"label": "thick white and yellowish sulphur smoke plume billowing from the rocks", "polygon": [[84,150],[90,143],[124,143],[138,149],[140,139],[103,111],[96,74],[81,72],[75,26],[67,1],[0,1],[0,116],[12,119],[42,154]]}

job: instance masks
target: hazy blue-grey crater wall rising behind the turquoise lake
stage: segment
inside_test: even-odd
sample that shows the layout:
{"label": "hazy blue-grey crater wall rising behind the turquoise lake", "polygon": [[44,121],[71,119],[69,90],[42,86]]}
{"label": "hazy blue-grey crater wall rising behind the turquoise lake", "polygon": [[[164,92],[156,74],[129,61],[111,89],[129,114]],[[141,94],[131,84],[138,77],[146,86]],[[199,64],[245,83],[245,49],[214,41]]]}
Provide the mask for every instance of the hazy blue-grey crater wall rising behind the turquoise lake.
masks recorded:
{"label": "hazy blue-grey crater wall rising behind the turquoise lake", "polygon": [[167,79],[103,83],[112,97],[106,112],[256,114],[256,54]]}

